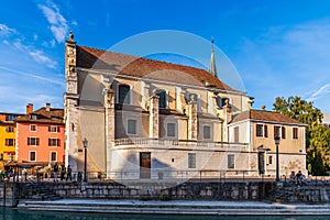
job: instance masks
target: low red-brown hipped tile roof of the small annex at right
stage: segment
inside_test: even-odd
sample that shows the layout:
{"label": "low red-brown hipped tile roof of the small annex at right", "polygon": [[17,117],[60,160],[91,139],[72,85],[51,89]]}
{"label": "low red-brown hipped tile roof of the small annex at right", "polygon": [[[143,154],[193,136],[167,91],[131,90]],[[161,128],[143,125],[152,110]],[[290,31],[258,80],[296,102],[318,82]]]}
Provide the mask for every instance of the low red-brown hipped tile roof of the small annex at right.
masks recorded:
{"label": "low red-brown hipped tile roof of the small annex at right", "polygon": [[234,116],[233,120],[230,123],[243,121],[246,119],[256,120],[256,121],[282,122],[282,123],[293,123],[293,124],[304,125],[304,123],[301,123],[300,121],[292,119],[287,116],[284,116],[278,112],[265,111],[265,110],[244,111],[242,113]]}

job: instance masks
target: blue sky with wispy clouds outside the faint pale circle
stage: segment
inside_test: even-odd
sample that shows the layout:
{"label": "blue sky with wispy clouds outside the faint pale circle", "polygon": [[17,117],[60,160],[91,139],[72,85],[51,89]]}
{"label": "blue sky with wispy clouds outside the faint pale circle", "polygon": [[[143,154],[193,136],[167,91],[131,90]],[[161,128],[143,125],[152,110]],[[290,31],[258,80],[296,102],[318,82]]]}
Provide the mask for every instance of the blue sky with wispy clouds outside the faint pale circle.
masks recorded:
{"label": "blue sky with wispy clouds outside the faint pale circle", "polygon": [[300,96],[330,112],[329,12],[328,0],[3,1],[0,111],[24,112],[29,102],[63,107],[69,30],[79,45],[103,50],[135,34],[176,30],[213,36],[255,97],[254,108]]}

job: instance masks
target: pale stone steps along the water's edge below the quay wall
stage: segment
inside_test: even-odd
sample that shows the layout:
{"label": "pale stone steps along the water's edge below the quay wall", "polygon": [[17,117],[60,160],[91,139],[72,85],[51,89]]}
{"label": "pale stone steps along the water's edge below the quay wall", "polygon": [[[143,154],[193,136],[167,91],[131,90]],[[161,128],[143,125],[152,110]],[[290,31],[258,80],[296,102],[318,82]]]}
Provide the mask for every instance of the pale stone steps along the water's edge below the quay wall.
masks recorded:
{"label": "pale stone steps along the water's edge below the quay wall", "polygon": [[141,201],[62,199],[55,201],[20,201],[19,209],[79,211],[103,213],[164,213],[215,216],[330,216],[330,204],[267,204],[257,201]]}

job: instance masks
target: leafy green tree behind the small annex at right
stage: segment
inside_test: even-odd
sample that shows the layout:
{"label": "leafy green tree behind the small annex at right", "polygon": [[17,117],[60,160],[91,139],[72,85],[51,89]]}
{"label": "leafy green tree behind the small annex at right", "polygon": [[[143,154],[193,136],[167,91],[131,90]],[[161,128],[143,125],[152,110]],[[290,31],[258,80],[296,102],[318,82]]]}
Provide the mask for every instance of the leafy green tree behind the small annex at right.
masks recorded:
{"label": "leafy green tree behind the small annex at right", "polygon": [[306,150],[309,172],[314,175],[323,175],[324,166],[328,165],[330,131],[320,124],[323,119],[322,112],[314,107],[311,101],[297,96],[287,99],[277,97],[273,106],[274,111],[307,124]]}

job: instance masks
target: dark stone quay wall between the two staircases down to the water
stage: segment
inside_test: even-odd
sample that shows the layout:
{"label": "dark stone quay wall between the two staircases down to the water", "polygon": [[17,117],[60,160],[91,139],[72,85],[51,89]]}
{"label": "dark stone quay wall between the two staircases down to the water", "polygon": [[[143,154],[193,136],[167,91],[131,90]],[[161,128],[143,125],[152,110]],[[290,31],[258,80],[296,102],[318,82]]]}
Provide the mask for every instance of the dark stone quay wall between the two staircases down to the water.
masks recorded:
{"label": "dark stone quay wall between the two staircases down to the water", "polygon": [[[185,183],[177,186],[168,184],[139,183],[123,186],[117,183],[41,183],[63,198],[89,199],[179,199],[179,200],[260,200],[265,199],[272,183]],[[40,187],[38,185],[38,187]],[[20,184],[19,199],[38,199],[35,185]]]}

